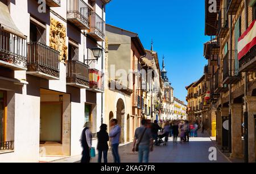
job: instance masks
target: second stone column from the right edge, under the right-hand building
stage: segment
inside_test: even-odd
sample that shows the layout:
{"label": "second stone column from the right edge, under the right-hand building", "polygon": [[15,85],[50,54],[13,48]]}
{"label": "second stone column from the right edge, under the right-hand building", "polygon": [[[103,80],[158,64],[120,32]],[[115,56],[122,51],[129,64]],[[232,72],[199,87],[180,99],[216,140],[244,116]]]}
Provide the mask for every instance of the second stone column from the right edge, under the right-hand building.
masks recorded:
{"label": "second stone column from the right edge, under the right-hand building", "polygon": [[243,158],[242,152],[242,103],[231,104],[232,114],[232,158]]}

